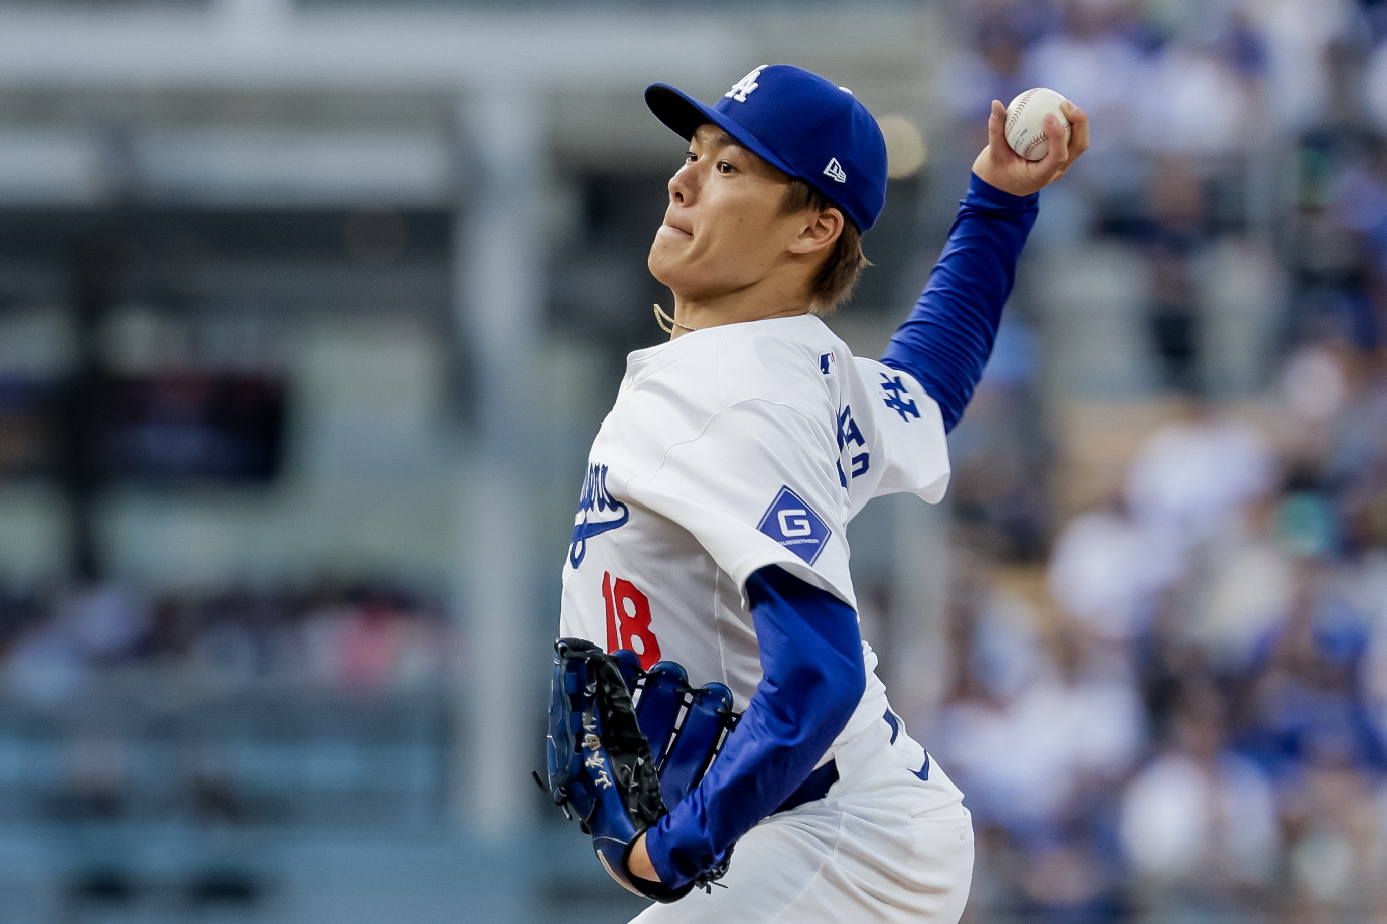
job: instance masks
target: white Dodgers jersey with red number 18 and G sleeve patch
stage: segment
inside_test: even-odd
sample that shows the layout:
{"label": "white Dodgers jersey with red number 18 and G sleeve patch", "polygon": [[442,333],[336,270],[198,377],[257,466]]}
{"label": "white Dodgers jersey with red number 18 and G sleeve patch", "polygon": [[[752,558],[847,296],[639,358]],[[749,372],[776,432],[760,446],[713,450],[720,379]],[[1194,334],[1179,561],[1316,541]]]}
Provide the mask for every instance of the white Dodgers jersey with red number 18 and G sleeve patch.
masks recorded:
{"label": "white Dodgers jersey with red number 18 and G sleeve patch", "polygon": [[[779,565],[856,608],[847,521],[878,495],[936,503],[947,482],[935,402],[813,314],[637,350],[588,459],[560,632],[675,661],[742,711],[761,679],[748,576]],[[886,709],[863,647],[867,691],[828,755]]]}

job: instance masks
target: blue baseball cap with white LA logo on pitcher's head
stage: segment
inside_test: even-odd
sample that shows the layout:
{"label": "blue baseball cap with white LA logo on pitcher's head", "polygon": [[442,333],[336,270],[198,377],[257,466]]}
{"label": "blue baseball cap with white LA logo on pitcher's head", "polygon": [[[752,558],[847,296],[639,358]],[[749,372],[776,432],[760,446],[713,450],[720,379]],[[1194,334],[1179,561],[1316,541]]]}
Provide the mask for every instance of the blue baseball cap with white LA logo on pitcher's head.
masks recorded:
{"label": "blue baseball cap with white LA logo on pitcher's head", "polygon": [[664,83],[645,104],[675,134],[712,122],[771,166],[827,195],[865,231],[886,202],[886,140],[847,87],[788,64],[763,64],[714,105]]}

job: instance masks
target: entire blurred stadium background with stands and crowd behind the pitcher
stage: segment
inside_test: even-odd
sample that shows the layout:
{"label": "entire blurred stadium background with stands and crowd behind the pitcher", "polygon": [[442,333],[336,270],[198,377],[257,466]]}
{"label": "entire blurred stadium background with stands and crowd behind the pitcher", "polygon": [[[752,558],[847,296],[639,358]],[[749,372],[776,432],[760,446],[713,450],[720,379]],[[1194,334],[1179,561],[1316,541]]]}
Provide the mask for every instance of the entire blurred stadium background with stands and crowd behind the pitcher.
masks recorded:
{"label": "entire blurred stadium background with stands and crowd behind the pitcher", "polygon": [[864,355],[989,100],[1096,126],[852,531],[965,920],[1387,921],[1387,3],[4,0],[0,924],[639,910],[527,779],[559,565],[639,91],[779,61],[888,133]]}

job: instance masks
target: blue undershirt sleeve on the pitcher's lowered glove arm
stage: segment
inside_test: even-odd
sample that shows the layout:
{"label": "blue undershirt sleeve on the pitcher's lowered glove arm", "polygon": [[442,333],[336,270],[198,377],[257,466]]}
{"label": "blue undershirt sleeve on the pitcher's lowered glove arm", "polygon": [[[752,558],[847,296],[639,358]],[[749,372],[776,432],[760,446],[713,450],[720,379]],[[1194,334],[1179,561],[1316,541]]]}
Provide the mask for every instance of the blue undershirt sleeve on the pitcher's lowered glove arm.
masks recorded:
{"label": "blue undershirt sleeve on the pitcher's lowered glove arm", "polygon": [[867,687],[852,607],[775,565],[746,579],[746,596],[763,677],[707,776],[645,835],[667,888],[721,862],[799,788]]}

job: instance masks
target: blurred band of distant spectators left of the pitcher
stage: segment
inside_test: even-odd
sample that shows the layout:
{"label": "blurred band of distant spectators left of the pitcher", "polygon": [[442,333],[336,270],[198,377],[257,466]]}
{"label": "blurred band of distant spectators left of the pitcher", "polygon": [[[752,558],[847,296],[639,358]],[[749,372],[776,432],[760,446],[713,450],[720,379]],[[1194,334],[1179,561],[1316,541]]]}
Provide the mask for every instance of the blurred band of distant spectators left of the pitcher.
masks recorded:
{"label": "blurred band of distant spectators left of the pitcher", "polygon": [[390,586],[148,596],[98,583],[0,598],[4,691],[40,705],[130,670],[211,691],[269,683],[384,695],[437,684],[448,640],[437,603]]}

